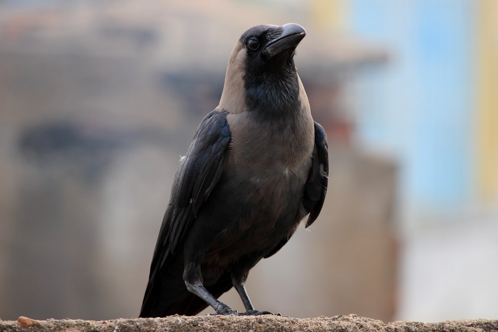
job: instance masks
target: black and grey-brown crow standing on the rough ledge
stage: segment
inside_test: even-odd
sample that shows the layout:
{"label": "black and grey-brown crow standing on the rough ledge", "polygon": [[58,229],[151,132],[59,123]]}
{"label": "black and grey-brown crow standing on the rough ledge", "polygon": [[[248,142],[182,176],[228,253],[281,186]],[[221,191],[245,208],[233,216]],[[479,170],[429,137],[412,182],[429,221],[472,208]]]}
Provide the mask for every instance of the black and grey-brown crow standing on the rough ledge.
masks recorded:
{"label": "black and grey-brown crow standing on the rough ledge", "polygon": [[[302,26],[257,25],[237,41],[220,104],[204,117],[176,172],[140,317],[195,315],[277,252],[327,191],[328,146],[294,65]],[[244,315],[239,314],[239,315]]]}

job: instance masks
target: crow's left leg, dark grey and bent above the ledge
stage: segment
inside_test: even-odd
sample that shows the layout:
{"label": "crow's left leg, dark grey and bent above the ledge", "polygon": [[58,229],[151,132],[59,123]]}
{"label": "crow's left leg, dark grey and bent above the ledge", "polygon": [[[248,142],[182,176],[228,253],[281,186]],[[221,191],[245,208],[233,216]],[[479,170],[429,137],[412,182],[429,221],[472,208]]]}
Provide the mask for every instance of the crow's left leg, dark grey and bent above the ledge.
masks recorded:
{"label": "crow's left leg, dark grey and bent above the ledge", "polygon": [[209,304],[218,315],[237,315],[236,310],[232,310],[229,306],[221,301],[218,301],[202,284],[202,275],[199,267],[194,264],[188,264],[183,272],[183,280],[187,290]]}

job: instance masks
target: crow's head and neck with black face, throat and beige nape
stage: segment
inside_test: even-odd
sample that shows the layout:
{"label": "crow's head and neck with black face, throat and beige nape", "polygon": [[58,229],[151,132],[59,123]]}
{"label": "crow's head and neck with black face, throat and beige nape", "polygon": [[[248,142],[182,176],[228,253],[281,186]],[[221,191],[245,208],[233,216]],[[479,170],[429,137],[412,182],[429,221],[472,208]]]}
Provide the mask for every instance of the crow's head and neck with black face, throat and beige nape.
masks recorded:
{"label": "crow's head and neck with black face, throat and beige nape", "polygon": [[297,97],[294,53],[305,35],[296,23],[256,25],[244,32],[230,55],[219,108],[233,113],[261,103],[284,108],[282,103]]}

